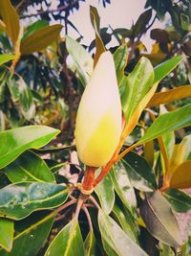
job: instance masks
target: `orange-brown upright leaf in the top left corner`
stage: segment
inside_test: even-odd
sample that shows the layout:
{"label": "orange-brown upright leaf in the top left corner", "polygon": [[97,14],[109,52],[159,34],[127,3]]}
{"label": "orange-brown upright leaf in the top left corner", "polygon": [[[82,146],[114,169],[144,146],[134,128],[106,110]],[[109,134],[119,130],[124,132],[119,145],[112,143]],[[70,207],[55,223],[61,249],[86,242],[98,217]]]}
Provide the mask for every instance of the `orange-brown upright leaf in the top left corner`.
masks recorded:
{"label": "orange-brown upright leaf in the top left corner", "polygon": [[0,15],[6,25],[6,32],[11,37],[13,44],[16,43],[19,35],[19,16],[11,5],[10,0],[0,1]]}

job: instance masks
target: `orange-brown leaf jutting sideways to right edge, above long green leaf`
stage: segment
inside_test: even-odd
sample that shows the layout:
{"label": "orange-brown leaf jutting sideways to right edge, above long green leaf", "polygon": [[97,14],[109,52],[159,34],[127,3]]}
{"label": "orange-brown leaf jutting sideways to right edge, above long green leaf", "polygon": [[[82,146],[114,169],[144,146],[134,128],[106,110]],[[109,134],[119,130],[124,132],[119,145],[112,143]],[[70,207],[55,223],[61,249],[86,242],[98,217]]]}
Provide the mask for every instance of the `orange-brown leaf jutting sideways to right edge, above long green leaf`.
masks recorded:
{"label": "orange-brown leaf jutting sideways to right edge, above long green leaf", "polygon": [[191,97],[191,85],[183,85],[178,88],[157,92],[153,95],[147,107],[157,106],[161,104],[168,104],[186,97]]}

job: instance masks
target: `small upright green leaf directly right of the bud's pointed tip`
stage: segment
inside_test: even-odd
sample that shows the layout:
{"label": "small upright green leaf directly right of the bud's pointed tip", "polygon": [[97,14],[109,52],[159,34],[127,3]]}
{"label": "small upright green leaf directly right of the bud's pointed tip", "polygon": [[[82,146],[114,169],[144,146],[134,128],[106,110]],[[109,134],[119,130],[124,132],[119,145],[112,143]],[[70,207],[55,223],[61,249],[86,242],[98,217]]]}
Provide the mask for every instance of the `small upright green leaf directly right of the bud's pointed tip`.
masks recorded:
{"label": "small upright green leaf directly right of the bud's pointed tip", "polygon": [[117,71],[117,83],[120,84],[124,76],[124,69],[127,64],[128,49],[126,44],[119,46],[114,54],[114,62]]}

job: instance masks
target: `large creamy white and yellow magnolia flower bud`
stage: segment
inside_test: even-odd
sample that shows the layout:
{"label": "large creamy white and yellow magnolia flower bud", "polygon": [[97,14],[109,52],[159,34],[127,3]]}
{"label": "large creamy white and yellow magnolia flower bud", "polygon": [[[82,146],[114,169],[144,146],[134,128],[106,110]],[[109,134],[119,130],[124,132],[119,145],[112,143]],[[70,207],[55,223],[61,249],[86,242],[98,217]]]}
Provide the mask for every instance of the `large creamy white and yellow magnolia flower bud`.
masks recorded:
{"label": "large creamy white and yellow magnolia flower bud", "polygon": [[76,117],[75,141],[80,160],[105,165],[117,149],[121,134],[121,104],[114,59],[103,53],[82,95]]}

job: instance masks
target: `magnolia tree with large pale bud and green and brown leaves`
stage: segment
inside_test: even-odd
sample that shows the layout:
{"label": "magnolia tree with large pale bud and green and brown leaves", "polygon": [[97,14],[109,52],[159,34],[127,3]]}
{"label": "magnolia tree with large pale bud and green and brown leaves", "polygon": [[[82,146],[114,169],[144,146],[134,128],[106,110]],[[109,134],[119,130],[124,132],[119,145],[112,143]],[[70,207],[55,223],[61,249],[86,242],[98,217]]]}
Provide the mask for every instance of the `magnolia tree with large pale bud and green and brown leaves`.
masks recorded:
{"label": "magnolia tree with large pale bud and green and brown leaves", "polygon": [[133,64],[140,37],[106,49],[90,13],[94,58],[0,2],[0,256],[188,255],[191,85],[161,90],[188,59]]}

